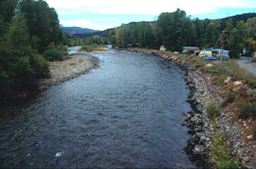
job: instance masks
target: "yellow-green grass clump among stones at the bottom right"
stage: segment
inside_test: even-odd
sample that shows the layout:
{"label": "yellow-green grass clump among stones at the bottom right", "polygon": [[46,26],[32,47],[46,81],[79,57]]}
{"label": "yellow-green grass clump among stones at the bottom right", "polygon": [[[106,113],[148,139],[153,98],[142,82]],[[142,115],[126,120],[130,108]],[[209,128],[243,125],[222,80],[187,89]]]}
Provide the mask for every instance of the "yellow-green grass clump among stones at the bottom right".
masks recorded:
{"label": "yellow-green grass clump among stones at the bottom right", "polygon": [[238,162],[234,161],[230,155],[229,145],[224,134],[216,133],[213,137],[211,162],[216,168],[239,168]]}

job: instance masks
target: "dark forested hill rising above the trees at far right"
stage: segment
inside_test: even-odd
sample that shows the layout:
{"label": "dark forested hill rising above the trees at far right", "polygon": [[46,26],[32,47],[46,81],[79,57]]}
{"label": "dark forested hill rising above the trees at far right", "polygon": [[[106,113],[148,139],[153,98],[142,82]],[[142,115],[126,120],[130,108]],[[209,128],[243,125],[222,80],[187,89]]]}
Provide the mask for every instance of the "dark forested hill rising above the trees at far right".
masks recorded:
{"label": "dark forested hill rising above the trees at far right", "polygon": [[235,16],[229,16],[227,18],[222,18],[221,19],[221,29],[225,28],[226,22],[228,20],[232,20],[233,24],[236,24],[237,22],[240,22],[241,20],[248,20],[248,18],[253,18],[256,17],[256,13],[247,13],[247,14],[241,14],[241,15],[235,15]]}

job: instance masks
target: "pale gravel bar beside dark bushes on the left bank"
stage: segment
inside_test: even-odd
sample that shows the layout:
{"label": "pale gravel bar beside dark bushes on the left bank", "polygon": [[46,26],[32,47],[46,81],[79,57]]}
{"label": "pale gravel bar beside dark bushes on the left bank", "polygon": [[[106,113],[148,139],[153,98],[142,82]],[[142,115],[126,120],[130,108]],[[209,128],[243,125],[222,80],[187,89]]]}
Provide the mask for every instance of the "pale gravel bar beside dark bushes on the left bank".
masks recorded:
{"label": "pale gravel bar beside dark bushes on the left bank", "polygon": [[99,60],[88,54],[73,54],[68,60],[49,62],[49,64],[51,77],[39,80],[41,91],[97,68]]}

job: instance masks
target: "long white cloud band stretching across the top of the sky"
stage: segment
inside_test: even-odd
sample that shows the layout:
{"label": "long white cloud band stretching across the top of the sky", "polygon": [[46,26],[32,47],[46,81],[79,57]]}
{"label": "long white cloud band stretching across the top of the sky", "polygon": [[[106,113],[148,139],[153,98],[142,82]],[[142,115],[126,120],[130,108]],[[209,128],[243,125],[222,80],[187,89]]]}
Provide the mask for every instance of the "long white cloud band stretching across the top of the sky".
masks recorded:
{"label": "long white cloud band stretching across the top of the sky", "polygon": [[179,7],[188,14],[216,12],[219,7],[254,8],[255,0],[46,0],[51,7],[102,14],[152,14],[173,12]]}

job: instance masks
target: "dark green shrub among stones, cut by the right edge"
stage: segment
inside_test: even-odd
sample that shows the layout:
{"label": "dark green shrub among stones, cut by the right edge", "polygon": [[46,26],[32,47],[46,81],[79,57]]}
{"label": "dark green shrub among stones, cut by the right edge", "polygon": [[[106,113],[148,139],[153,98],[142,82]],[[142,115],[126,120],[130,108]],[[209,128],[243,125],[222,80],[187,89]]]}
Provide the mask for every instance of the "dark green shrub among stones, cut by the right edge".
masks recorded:
{"label": "dark green shrub among stones, cut by the right edge", "polygon": [[239,117],[242,119],[248,118],[251,114],[253,117],[256,117],[256,102],[250,102],[248,98],[240,98],[240,102],[238,104],[240,108]]}

